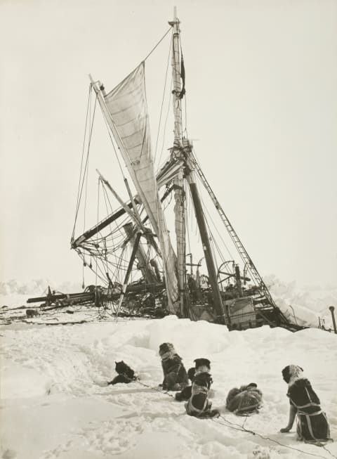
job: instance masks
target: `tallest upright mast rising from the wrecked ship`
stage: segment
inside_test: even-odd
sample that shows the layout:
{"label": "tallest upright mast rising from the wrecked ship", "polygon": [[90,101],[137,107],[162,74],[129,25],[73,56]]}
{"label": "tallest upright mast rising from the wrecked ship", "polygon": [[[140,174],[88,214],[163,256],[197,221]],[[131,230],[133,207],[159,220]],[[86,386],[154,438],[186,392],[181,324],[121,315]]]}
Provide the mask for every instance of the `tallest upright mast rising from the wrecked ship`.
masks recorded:
{"label": "tallest upright mast rising from the wrecked ship", "polygon": [[[182,116],[181,116],[181,95],[180,95],[180,39],[179,20],[177,18],[176,6],[173,12],[173,21],[169,22],[173,27],[172,34],[172,77],[173,77],[173,114],[174,114],[174,142],[172,155],[177,159],[182,156]],[[174,198],[176,200],[175,226],[177,240],[177,263],[178,283],[180,291],[180,314],[185,316],[185,197],[184,197],[183,167],[173,181]]]}

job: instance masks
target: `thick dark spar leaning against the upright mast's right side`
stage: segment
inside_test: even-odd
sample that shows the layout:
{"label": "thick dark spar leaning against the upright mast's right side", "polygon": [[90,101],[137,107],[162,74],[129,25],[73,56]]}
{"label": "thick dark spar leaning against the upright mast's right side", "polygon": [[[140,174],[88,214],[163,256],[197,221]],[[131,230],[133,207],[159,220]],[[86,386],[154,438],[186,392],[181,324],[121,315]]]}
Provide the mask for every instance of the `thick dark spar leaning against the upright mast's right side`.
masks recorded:
{"label": "thick dark spar leaning against the upright mast's right side", "polygon": [[217,312],[220,323],[227,323],[227,325],[230,325],[230,318],[227,314],[227,310],[225,311],[227,320],[226,321],[224,320],[223,300],[221,298],[220,289],[218,286],[216,265],[214,264],[213,255],[211,252],[211,244],[209,243],[209,235],[207,233],[206,221],[204,217],[204,212],[202,210],[202,205],[201,205],[201,200],[199,196],[199,191],[197,188],[197,183],[195,183],[195,179],[194,179],[194,172],[192,171],[190,172],[190,174],[187,176],[187,180],[190,185],[190,191],[192,195],[195,216],[197,218],[197,224],[199,227],[202,248],[204,250],[207,271],[209,271],[209,283],[211,284],[211,289],[213,292],[214,306],[216,307],[216,312]]}

